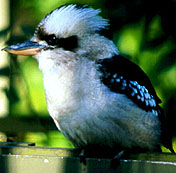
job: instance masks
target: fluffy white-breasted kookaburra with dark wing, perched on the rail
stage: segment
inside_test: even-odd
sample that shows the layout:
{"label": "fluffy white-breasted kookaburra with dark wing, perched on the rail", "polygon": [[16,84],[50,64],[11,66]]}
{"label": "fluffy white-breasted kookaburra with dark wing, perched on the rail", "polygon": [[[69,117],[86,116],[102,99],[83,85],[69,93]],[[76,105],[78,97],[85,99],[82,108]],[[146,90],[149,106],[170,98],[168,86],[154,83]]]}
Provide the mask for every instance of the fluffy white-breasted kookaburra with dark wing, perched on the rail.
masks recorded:
{"label": "fluffy white-breasted kookaburra with dark wing, perched on the rail", "polygon": [[41,20],[30,40],[2,50],[38,61],[48,112],[75,148],[115,156],[158,151],[163,144],[174,152],[149,77],[102,34],[109,21],[100,12],[62,5]]}

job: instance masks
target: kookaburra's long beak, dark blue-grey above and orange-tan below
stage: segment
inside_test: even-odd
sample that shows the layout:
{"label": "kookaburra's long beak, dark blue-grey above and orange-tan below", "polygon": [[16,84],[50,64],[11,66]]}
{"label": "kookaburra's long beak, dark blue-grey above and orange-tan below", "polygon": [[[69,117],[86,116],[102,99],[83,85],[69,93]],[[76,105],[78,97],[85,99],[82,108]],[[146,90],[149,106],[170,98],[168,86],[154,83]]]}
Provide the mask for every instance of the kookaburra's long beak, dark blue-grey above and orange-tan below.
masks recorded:
{"label": "kookaburra's long beak, dark blue-grey above and orange-tan below", "polygon": [[32,56],[38,54],[44,48],[46,48],[46,45],[41,45],[37,42],[28,40],[23,43],[17,43],[15,45],[5,47],[2,50],[15,55]]}

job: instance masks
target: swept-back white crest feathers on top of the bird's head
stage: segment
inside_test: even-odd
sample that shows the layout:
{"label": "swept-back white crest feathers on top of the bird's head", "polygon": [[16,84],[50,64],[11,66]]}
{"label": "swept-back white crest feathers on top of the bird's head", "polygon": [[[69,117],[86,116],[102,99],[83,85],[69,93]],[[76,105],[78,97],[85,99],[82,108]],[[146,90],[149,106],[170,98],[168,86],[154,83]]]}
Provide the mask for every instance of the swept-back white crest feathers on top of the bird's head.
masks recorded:
{"label": "swept-back white crest feathers on top of the bird's head", "polygon": [[98,14],[101,10],[94,10],[87,6],[61,6],[48,14],[39,24],[47,33],[67,37],[71,34],[83,35],[105,29],[108,21]]}

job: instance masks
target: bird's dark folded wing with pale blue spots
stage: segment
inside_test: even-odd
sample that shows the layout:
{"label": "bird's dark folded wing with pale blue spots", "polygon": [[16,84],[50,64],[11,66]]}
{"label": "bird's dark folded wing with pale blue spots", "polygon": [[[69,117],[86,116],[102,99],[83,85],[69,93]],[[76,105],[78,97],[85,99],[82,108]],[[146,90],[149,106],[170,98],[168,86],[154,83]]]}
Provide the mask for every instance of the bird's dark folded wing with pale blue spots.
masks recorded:
{"label": "bird's dark folded wing with pale blue spots", "polygon": [[113,92],[125,94],[145,111],[160,114],[161,100],[143,70],[121,55],[97,61],[102,82]]}

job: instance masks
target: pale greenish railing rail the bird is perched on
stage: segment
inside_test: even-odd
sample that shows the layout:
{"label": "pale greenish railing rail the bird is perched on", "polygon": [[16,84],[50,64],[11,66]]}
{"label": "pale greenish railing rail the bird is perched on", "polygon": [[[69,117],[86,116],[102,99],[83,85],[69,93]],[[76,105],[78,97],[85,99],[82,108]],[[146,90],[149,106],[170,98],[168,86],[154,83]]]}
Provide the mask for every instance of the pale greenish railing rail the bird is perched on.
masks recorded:
{"label": "pale greenish railing rail the bird is perched on", "polygon": [[111,159],[86,158],[84,165],[77,150],[32,145],[0,143],[0,173],[176,173],[176,155],[170,153],[131,155],[112,169]]}

